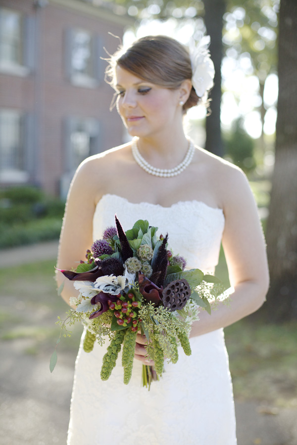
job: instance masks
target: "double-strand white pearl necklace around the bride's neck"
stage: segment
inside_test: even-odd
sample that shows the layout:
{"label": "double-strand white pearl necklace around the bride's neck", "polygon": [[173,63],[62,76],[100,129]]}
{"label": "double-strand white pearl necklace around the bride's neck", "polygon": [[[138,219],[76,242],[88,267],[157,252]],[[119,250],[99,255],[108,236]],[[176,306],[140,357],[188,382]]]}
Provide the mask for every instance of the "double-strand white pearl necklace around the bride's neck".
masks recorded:
{"label": "double-strand white pearl necklace around the bride's neck", "polygon": [[144,169],[150,175],[159,176],[162,178],[171,178],[182,173],[188,167],[188,165],[191,164],[195,152],[194,144],[192,140],[190,140],[186,156],[179,165],[173,169],[157,169],[156,167],[148,164],[148,162],[142,157],[137,147],[137,139],[133,139],[131,148],[135,161],[142,169]]}

